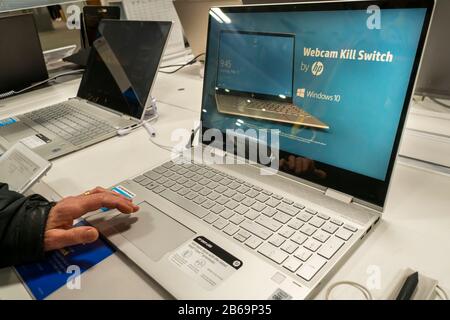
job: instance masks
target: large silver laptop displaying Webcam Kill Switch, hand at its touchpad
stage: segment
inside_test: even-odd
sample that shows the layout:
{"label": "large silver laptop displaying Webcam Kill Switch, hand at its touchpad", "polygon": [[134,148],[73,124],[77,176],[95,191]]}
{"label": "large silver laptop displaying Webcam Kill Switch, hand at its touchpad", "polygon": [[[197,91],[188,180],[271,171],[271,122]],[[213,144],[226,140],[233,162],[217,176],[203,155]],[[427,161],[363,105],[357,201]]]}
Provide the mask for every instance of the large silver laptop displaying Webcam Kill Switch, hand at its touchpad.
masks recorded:
{"label": "large silver laptop displaying Webcam Kill Switch, hand at its touchpad", "polygon": [[[381,12],[368,13],[368,5]],[[95,212],[88,221],[176,298],[313,297],[381,219],[433,5],[220,8],[221,19],[209,21],[201,146],[188,162],[174,158],[114,187],[138,213]],[[381,25],[372,24],[380,13]],[[260,80],[239,74],[239,56],[219,59],[220,31],[242,29],[296,35],[294,85],[305,95],[294,102],[330,130],[217,111],[218,65],[228,68],[230,85]],[[254,58],[271,68],[274,57]],[[314,64],[321,75],[311,72]],[[275,90],[285,76],[257,85]],[[258,129],[274,131],[268,139]],[[236,137],[248,138],[244,148]],[[250,161],[250,141],[260,142],[270,164]],[[205,161],[211,157],[229,164]]]}

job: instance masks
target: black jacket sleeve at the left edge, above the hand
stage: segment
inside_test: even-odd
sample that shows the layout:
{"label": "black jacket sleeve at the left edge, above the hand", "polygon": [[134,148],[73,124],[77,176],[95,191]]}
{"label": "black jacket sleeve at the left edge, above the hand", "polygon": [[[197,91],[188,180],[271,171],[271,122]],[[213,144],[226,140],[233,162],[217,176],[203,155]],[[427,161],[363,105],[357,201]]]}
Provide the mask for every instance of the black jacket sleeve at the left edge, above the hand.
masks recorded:
{"label": "black jacket sleeve at the left edge, above the hand", "polygon": [[44,232],[52,203],[25,197],[0,183],[0,268],[44,256]]}

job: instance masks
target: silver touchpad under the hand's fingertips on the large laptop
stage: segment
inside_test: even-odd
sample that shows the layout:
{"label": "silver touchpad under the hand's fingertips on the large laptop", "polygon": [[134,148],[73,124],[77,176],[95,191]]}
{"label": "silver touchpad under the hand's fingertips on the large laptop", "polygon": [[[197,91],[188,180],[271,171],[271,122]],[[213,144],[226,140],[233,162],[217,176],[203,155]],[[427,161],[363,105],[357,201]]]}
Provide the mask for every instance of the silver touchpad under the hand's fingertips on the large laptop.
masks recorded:
{"label": "silver touchpad under the hand's fingertips on the large laptop", "polygon": [[139,211],[131,215],[137,221],[121,234],[153,261],[158,261],[195,235],[194,231],[148,202],[141,202],[139,207]]}

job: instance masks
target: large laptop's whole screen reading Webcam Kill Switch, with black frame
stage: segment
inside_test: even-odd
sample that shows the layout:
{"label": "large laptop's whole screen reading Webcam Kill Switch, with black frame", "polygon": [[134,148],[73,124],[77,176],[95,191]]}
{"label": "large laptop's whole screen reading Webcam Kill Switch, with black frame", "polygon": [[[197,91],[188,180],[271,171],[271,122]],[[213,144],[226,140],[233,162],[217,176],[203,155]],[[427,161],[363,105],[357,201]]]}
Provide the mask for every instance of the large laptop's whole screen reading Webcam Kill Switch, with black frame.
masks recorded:
{"label": "large laptop's whole screen reading Webcam Kill Switch, with black frame", "polygon": [[[280,170],[382,206],[432,6],[357,1],[213,9],[203,128],[277,129]],[[292,103],[273,107],[276,99],[257,97],[255,113],[242,92],[292,93]]]}

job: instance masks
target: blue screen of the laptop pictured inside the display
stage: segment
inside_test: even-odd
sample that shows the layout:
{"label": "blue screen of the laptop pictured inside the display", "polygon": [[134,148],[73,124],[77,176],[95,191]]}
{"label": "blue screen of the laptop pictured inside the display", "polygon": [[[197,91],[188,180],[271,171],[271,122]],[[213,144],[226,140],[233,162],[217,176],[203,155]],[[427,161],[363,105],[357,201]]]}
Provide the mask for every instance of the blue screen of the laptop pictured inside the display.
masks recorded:
{"label": "blue screen of the laptop pictured inside the display", "polygon": [[294,37],[222,32],[217,87],[292,97]]}

